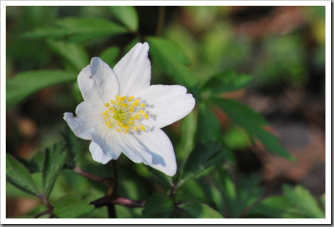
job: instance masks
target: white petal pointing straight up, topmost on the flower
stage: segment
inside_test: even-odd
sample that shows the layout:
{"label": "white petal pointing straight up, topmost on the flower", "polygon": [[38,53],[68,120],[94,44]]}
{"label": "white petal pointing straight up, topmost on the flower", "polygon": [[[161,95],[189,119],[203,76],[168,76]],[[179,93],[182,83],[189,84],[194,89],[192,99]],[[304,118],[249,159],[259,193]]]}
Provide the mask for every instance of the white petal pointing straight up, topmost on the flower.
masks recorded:
{"label": "white petal pointing straight up, topmost on the flower", "polygon": [[151,62],[149,44],[137,43],[115,65],[114,72],[119,81],[119,96],[136,96],[149,87],[151,82]]}

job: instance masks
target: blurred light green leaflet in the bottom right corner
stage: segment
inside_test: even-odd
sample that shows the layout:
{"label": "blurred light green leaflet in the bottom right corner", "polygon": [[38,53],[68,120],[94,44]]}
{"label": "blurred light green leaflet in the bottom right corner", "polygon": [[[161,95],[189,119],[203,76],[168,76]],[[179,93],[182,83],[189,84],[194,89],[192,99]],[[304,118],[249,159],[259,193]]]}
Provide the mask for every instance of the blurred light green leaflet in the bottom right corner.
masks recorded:
{"label": "blurred light green leaflet in the bottom right corner", "polygon": [[284,196],[297,206],[308,218],[325,218],[325,212],[320,209],[316,199],[301,185],[294,189],[284,185]]}

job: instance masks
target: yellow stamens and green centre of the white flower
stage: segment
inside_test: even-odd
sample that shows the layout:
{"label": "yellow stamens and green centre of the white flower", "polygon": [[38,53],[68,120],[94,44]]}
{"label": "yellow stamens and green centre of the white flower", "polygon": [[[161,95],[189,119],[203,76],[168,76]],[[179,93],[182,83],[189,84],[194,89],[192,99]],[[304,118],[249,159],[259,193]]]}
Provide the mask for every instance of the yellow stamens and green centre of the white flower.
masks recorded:
{"label": "yellow stamens and green centre of the white flower", "polygon": [[129,131],[145,131],[142,121],[149,119],[149,114],[145,112],[146,105],[133,96],[119,97],[116,100],[104,104],[107,110],[102,113],[104,121],[108,128],[116,128],[116,130],[125,134]]}

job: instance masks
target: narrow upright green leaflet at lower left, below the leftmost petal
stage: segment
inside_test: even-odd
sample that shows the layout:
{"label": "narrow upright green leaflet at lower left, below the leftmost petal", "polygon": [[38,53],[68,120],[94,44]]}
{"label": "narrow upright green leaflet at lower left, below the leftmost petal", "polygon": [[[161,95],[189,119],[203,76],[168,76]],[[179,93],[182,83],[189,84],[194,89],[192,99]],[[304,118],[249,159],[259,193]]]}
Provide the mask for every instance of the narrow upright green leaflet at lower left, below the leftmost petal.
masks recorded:
{"label": "narrow upright green leaflet at lower left, below the leftmost petal", "polygon": [[43,194],[46,198],[50,195],[60,170],[66,160],[66,153],[63,152],[63,143],[55,143],[53,150],[49,148],[45,150],[45,158],[43,165]]}

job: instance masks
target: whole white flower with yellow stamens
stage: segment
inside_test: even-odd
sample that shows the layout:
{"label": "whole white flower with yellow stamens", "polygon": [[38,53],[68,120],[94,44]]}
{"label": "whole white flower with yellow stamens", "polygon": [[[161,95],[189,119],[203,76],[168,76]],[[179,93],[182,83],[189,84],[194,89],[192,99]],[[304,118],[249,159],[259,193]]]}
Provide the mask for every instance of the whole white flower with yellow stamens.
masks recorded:
{"label": "whole white flower with yellow stamens", "polygon": [[173,145],[160,129],[193,110],[195,99],[180,85],[151,85],[149,45],[137,43],[112,70],[99,57],[77,77],[85,101],[65,113],[77,137],[92,140],[92,158],[106,164],[121,153],[166,175],[176,174]]}

